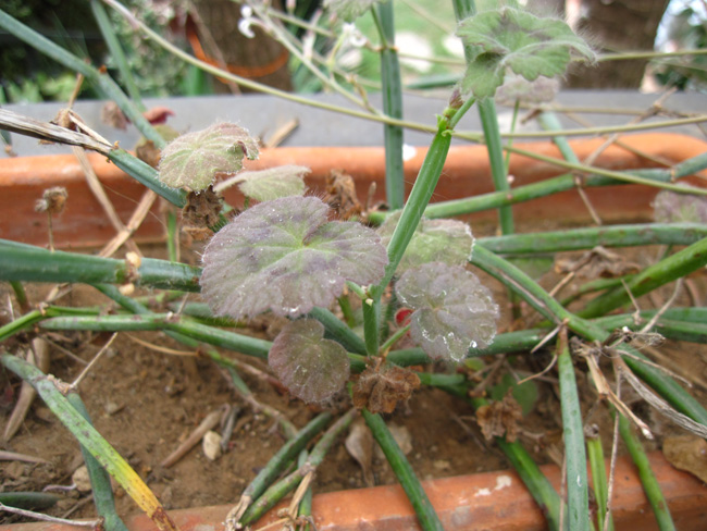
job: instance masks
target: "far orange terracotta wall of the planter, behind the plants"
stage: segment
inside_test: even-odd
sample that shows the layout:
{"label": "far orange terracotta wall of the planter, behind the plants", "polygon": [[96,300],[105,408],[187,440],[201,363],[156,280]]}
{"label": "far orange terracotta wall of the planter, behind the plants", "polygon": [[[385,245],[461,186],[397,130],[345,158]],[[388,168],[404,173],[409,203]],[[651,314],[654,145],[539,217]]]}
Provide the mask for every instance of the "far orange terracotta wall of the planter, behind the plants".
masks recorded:
{"label": "far orange terracotta wall of the planter, behind the plants", "polygon": [[[623,136],[624,147],[611,146],[598,158],[596,165],[611,170],[634,170],[656,165],[656,160],[675,163],[707,151],[707,143],[675,134],[642,134]],[[603,144],[603,139],[572,140],[571,145],[580,160],[590,156]],[[518,144],[543,155],[560,158],[551,143]],[[405,164],[406,182],[412,186],[426,153],[418,148],[414,157]],[[642,155],[637,155],[642,153]],[[96,173],[103,183],[108,196],[119,215],[126,221],[142,194],[142,186],[127,177],[115,165],[99,155],[89,155]],[[312,169],[309,186],[314,193],[325,189],[325,178],[332,169],[342,169],[354,175],[357,190],[363,200],[372,183],[376,184],[376,200],[383,200],[384,151],[383,148],[276,148],[263,150],[260,160],[249,163],[250,169],[280,164],[301,164]],[[542,181],[563,173],[545,162],[525,157],[510,159],[513,185]],[[35,245],[47,243],[47,218],[34,211],[36,199],[45,188],[64,186],[69,203],[61,217],[53,221],[54,239],[59,247],[99,246],[110,239],[114,230],[99,202],[89,192],[80,165],[72,155],[25,157],[0,160],[0,235],[3,238]],[[444,174],[435,190],[433,201],[457,199],[493,190],[488,159],[483,146],[452,147],[445,164]],[[590,198],[599,215],[607,221],[646,219],[650,215],[650,201],[655,189],[645,186],[620,186],[588,188]],[[232,188],[226,198],[238,201],[238,193]],[[153,211],[156,212],[156,206]],[[535,199],[513,207],[519,221],[547,219],[586,219],[586,208],[574,190],[551,197]],[[494,211],[474,214],[472,219],[496,219]],[[23,220],[17,223],[17,220]],[[138,240],[161,240],[164,229],[159,215],[148,215],[138,231]]]}

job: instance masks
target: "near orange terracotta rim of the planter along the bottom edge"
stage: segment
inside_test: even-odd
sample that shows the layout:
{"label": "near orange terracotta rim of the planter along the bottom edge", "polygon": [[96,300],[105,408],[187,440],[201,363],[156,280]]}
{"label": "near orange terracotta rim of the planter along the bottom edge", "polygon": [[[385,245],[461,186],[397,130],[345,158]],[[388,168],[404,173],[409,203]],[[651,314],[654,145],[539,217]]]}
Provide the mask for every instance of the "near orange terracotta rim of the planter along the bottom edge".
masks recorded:
{"label": "near orange terracotta rim of the planter along the bottom edge", "polygon": [[[681,531],[707,528],[707,486],[695,477],[672,468],[660,453],[649,455],[652,468],[665,493],[675,526]],[[554,465],[541,467],[560,489],[560,470]],[[608,464],[607,464],[608,471]],[[545,517],[512,471],[486,472],[423,482],[442,523],[448,531],[546,529]],[[273,508],[252,529],[277,519]],[[182,531],[220,531],[231,506],[172,510],[170,515]],[[312,514],[320,531],[410,531],[420,529],[402,489],[376,486],[314,496]],[[618,530],[658,529],[638,474],[629,458],[617,461],[613,496]],[[145,515],[125,520],[131,531],[153,531]],[[4,526],[4,531],[74,531],[57,523]]]}

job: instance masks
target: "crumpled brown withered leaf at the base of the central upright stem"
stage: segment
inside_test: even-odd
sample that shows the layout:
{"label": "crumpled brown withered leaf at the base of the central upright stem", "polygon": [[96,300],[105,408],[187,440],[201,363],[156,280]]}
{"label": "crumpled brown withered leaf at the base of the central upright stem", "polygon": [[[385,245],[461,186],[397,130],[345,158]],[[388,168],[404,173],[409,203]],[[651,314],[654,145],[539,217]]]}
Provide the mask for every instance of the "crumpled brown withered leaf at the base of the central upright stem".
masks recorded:
{"label": "crumpled brown withered leaf at the base of the central upright stem", "polygon": [[408,369],[394,365],[369,367],[354,386],[354,406],[368,408],[372,413],[392,413],[398,403],[409,399],[418,387],[420,379]]}

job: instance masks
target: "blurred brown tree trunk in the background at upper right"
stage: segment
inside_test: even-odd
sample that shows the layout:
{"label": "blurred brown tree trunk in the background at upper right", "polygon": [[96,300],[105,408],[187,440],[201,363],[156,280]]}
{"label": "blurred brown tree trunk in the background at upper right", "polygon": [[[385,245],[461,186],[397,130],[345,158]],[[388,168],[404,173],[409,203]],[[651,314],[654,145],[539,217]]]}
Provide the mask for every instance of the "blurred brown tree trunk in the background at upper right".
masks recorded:
{"label": "blurred brown tree trunk in the background at upper right", "polygon": [[[574,28],[601,48],[597,51],[653,50],[668,0],[575,0],[580,18]],[[638,88],[647,61],[607,61],[574,65],[566,85],[572,88]]]}

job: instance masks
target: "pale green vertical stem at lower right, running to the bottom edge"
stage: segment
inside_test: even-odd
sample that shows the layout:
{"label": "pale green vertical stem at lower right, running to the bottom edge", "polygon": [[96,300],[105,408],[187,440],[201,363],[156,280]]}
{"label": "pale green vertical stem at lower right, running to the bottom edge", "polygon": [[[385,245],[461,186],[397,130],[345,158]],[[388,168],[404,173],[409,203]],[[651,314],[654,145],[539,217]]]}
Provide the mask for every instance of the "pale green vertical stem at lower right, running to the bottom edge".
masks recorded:
{"label": "pale green vertical stem at lower right, running to the bottom edge", "polygon": [[567,341],[567,330],[560,332],[557,369],[560,380],[560,407],[567,462],[568,523],[571,530],[588,531],[591,528],[590,482],[586,474],[582,408],[574,379],[574,363]]}

